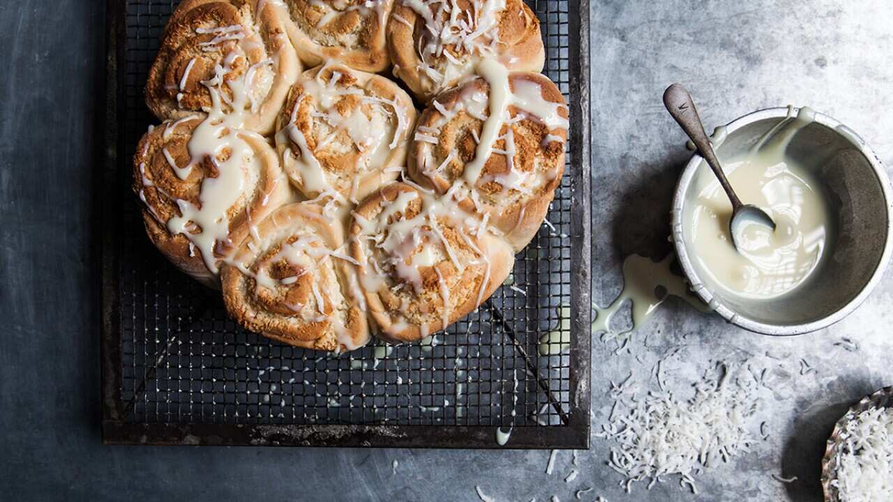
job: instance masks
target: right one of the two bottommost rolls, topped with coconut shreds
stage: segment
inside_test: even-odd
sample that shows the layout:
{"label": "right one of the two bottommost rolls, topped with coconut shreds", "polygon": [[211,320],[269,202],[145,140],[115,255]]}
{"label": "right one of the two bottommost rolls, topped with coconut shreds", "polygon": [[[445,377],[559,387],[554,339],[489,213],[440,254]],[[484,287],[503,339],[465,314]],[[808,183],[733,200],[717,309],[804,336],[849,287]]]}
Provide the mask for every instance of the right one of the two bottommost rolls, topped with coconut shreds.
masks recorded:
{"label": "right one of the two bottommost rolls, topped with coconut shreds", "polygon": [[415,341],[472,312],[512,270],[512,248],[449,197],[393,183],[350,224],[359,288],[379,336]]}

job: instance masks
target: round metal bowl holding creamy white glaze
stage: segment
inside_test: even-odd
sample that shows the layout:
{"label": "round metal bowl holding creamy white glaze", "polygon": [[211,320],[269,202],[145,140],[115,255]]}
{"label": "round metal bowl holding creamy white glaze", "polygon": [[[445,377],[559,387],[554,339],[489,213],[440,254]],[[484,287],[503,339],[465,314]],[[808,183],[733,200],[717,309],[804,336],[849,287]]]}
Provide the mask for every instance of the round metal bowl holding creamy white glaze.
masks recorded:
{"label": "round metal bowl holding creamy white glaze", "polygon": [[745,115],[712,143],[741,200],[776,226],[748,226],[736,249],[729,199],[694,155],[673,199],[672,238],[697,295],[729,322],[771,335],[819,330],[855,310],[893,238],[893,195],[871,148],[839,121],[793,106]]}

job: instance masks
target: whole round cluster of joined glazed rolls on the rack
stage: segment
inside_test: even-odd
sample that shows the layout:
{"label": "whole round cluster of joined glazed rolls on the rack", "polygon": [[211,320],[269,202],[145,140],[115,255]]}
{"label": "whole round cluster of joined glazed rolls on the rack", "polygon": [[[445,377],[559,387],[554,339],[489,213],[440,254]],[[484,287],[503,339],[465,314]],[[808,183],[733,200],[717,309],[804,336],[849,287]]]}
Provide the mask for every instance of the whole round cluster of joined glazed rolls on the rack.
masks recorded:
{"label": "whole round cluster of joined glazed rolls on the rack", "polygon": [[[133,158],[146,233],[270,339],[340,353],[447,330],[561,183],[544,61],[523,0],[182,0],[146,82],[163,123]],[[376,74],[392,63],[409,91]]]}

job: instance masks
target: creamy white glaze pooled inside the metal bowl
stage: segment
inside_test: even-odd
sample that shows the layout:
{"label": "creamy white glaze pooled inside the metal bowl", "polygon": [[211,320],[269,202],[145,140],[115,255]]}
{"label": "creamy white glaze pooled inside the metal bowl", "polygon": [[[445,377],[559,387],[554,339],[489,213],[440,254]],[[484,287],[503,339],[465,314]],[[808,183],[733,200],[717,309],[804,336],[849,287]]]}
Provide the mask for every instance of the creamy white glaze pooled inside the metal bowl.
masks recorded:
{"label": "creamy white glaze pooled inside the metal bowl", "polygon": [[[722,159],[723,169],[742,200],[768,213],[773,231],[750,225],[739,249],[729,235],[731,205],[708,170],[694,180],[697,199],[685,236],[697,260],[714,281],[734,296],[771,299],[805,284],[828,255],[833,233],[827,198],[810,166],[787,155],[798,130],[814,121],[802,108],[760,138],[745,155]],[[722,157],[722,152],[720,153]]]}

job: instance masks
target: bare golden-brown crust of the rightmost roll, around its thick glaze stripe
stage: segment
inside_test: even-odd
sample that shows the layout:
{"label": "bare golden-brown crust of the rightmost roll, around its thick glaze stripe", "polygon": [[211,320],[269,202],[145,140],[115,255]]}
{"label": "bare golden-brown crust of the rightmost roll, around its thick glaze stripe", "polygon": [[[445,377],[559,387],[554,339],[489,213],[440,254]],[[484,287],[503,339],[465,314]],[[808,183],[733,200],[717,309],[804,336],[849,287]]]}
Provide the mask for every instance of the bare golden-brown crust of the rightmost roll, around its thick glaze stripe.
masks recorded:
{"label": "bare golden-brown crust of the rightmost roll, around its thick glaze stripe", "polygon": [[[568,114],[564,97],[547,77],[521,72],[512,73],[509,77],[513,91],[520,85],[528,86],[526,90],[529,92],[531,83],[538,86],[540,93],[534,97],[555,104],[555,113],[566,121]],[[480,96],[486,98],[488,93],[487,81],[475,79],[435,99],[448,113],[455,113],[454,116],[447,118],[434,106],[421,113],[416,133],[436,138],[437,144],[413,140],[407,171],[414,180],[445,194],[456,180],[462,179],[465,165],[476,156],[476,137],[480,138],[485,118],[481,116],[481,110],[488,113],[487,104],[481,101]],[[480,107],[480,110],[472,111],[474,106]],[[478,204],[468,197],[463,199],[461,205],[466,211],[488,213],[490,224],[502,231],[503,237],[518,252],[536,235],[555,197],[555,188],[561,184],[567,130],[564,127],[548,127],[530,110],[523,110],[519,105],[510,105],[508,114],[512,117],[509,121],[513,123],[506,121],[502,126],[500,138],[493,146],[494,151],[484,163],[475,184]],[[506,153],[511,150],[506,138],[510,128],[513,155]],[[510,183],[517,183],[517,188],[522,189],[506,187]]]}

